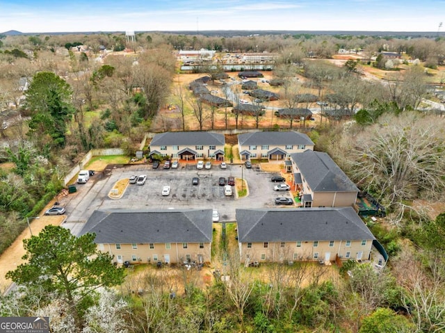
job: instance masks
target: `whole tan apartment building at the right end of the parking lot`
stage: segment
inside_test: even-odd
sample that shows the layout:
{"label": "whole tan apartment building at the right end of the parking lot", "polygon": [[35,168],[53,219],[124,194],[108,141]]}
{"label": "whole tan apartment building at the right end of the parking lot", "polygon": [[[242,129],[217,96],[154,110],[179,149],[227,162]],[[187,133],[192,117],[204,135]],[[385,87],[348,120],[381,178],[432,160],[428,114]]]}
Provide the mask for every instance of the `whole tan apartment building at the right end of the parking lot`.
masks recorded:
{"label": "whole tan apartment building at the right end of the parking lot", "polygon": [[291,154],[294,190],[304,207],[354,206],[359,189],[323,152],[306,150]]}

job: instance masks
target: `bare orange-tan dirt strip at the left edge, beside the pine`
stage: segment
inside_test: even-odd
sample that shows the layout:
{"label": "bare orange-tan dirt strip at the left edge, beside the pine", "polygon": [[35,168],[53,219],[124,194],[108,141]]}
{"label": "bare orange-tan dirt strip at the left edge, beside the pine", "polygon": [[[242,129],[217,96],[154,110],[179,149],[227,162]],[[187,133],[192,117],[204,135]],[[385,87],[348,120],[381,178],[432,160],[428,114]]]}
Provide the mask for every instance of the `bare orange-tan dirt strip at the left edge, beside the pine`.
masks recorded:
{"label": "bare orange-tan dirt strip at the left edge, beside the pine", "polygon": [[[29,225],[31,226],[31,231],[33,232],[33,235],[38,235],[44,227],[47,225],[60,225],[63,220],[65,220],[65,216],[44,216],[43,213],[47,209],[50,209],[52,206],[54,206],[54,203],[56,200],[51,200],[49,204],[44,208],[44,210],[39,214],[39,218],[33,218],[30,219]],[[14,243],[10,245],[6,249],[5,252],[3,252],[0,255],[0,292],[3,293],[8,286],[12,283],[9,279],[6,279],[5,275],[10,270],[15,270],[17,266],[24,263],[24,260],[22,257],[26,253],[23,247],[23,240],[25,238],[29,238],[31,236],[29,232],[29,228],[24,229],[22,234],[18,236]]]}

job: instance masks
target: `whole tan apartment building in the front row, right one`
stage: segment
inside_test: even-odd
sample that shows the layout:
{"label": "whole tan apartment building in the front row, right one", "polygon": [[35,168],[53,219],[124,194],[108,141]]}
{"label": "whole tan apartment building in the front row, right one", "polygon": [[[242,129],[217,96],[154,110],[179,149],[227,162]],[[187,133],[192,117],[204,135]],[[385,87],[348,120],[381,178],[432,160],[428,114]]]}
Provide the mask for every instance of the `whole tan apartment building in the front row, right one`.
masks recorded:
{"label": "whole tan apartment building in the front row, right one", "polygon": [[241,262],[368,260],[375,237],[353,207],[236,209]]}

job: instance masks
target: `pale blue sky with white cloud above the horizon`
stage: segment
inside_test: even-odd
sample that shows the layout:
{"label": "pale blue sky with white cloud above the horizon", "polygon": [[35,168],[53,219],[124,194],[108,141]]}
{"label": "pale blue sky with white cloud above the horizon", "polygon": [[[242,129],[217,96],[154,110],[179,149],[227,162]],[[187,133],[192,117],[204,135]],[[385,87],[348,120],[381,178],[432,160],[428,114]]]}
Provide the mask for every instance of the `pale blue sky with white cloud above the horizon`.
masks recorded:
{"label": "pale blue sky with white cloud above the horizon", "polygon": [[0,0],[0,32],[445,31],[445,0]]}

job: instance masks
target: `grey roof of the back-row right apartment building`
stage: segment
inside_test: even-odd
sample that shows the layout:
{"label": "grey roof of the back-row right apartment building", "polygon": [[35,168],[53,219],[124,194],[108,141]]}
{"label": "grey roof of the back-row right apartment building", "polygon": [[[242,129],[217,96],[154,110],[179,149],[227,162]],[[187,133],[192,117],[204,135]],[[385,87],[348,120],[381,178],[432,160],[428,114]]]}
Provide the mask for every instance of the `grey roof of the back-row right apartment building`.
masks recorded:
{"label": "grey roof of the back-row right apartment building", "polygon": [[314,145],[309,136],[296,131],[239,134],[238,143],[240,145]]}

